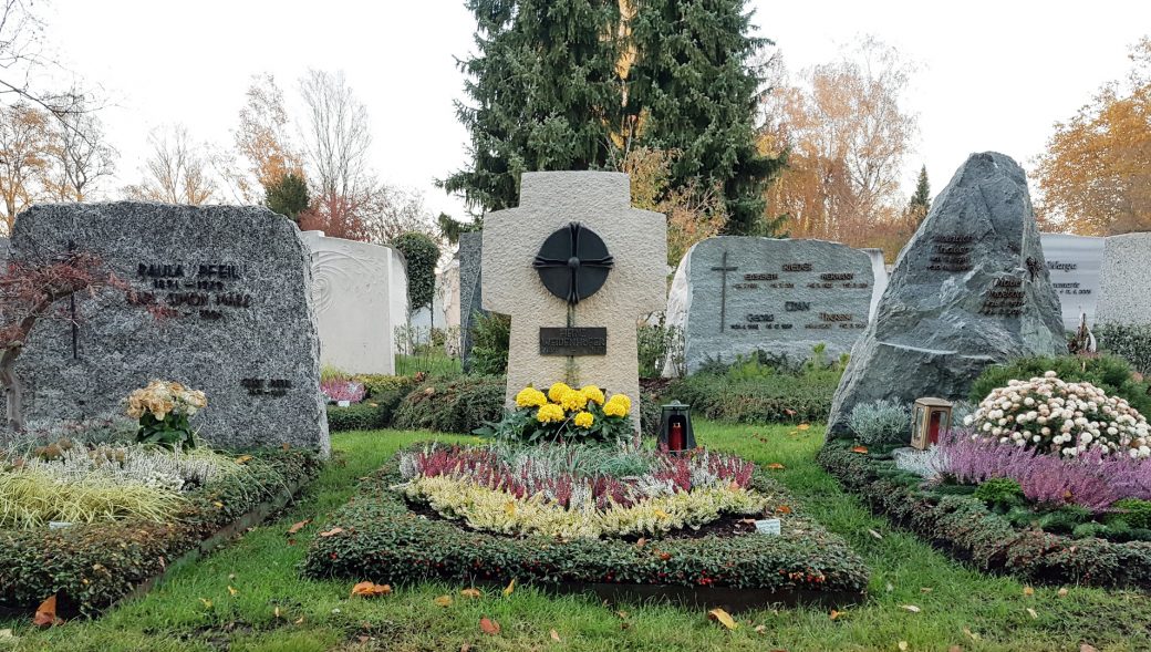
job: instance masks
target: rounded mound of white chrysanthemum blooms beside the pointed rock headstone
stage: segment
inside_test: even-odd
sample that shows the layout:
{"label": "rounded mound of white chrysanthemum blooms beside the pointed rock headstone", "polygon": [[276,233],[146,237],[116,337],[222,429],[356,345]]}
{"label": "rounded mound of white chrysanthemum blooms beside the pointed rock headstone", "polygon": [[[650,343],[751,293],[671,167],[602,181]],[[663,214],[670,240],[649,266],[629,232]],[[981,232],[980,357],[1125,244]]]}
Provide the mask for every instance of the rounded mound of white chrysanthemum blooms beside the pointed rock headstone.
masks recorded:
{"label": "rounded mound of white chrysanthemum blooms beside the pointed rock headstone", "polygon": [[1062,457],[1091,449],[1151,457],[1151,429],[1143,415],[1123,399],[1090,382],[1065,382],[1053,371],[993,389],[963,423],[975,429],[973,439]]}

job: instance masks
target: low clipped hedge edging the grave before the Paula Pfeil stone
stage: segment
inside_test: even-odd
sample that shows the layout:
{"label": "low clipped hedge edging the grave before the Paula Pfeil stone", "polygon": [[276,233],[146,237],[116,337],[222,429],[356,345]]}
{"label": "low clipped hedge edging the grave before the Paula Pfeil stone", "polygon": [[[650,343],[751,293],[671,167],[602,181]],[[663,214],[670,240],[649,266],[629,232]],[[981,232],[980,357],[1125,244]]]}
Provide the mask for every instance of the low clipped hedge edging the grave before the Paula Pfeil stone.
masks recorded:
{"label": "low clipped hedge edging the grave before the Paula Pfeil stone", "polygon": [[98,615],[221,530],[237,521],[251,525],[257,521],[253,511],[287,502],[320,468],[304,450],[253,455],[239,477],[243,482],[219,480],[188,494],[171,523],[128,520],[60,530],[0,530],[0,608],[31,613],[56,594],[61,616]]}

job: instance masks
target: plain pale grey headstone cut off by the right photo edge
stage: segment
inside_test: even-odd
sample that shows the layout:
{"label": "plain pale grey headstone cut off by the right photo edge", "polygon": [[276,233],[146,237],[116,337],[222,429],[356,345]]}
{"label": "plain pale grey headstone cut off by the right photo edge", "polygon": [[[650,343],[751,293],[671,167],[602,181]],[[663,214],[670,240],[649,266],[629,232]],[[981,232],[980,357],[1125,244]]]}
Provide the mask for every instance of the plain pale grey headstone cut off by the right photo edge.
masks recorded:
{"label": "plain pale grey headstone cut off by the right photo edge", "polygon": [[1097,324],[1151,324],[1151,233],[1105,238]]}

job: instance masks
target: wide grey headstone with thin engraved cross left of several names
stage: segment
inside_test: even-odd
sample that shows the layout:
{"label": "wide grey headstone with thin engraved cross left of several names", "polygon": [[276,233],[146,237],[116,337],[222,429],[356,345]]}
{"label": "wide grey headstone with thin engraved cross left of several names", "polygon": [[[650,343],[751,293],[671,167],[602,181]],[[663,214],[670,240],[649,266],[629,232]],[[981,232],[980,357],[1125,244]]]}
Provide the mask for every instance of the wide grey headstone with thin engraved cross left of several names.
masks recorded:
{"label": "wide grey headstone with thin engraved cross left of several names", "polygon": [[669,323],[684,329],[688,373],[756,350],[799,362],[824,344],[834,358],[867,327],[874,282],[869,256],[836,242],[710,237],[676,272],[686,290]]}

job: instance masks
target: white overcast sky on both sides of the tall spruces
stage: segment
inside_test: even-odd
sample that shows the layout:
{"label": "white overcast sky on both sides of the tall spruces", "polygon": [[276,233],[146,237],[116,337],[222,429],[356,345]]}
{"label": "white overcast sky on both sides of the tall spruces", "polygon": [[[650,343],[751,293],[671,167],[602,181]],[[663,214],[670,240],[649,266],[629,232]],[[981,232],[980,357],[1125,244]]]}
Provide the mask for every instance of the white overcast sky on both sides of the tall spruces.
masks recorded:
{"label": "white overcast sky on both sides of the tall spruces", "polygon": [[[1122,77],[1128,46],[1151,32],[1151,2],[1131,0],[753,5],[790,70],[868,33],[918,63],[907,106],[920,137],[905,187],[925,164],[932,192],[970,152],[1030,167],[1052,123]],[[63,63],[113,98],[104,120],[122,154],[115,188],[140,177],[151,128],[181,122],[197,139],[230,144],[251,75],[273,73],[295,99],[313,67],[344,70],[367,106],[381,179],[424,191],[434,211],[464,213],[434,185],[465,164],[452,107],[453,56],[471,51],[474,29],[463,0],[54,0],[47,14]]]}

